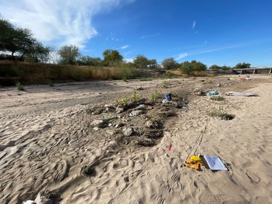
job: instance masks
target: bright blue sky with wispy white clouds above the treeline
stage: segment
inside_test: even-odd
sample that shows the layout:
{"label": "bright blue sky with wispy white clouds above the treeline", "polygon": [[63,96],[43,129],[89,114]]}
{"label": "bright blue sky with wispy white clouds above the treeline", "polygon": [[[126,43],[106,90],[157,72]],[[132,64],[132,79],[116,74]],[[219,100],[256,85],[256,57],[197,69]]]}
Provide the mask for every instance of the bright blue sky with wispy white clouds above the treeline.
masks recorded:
{"label": "bright blue sky with wispy white clouds above the treeline", "polygon": [[[11,3],[13,2],[13,4]],[[44,43],[101,57],[118,49],[235,66],[272,66],[272,1],[2,0],[1,14]]]}

